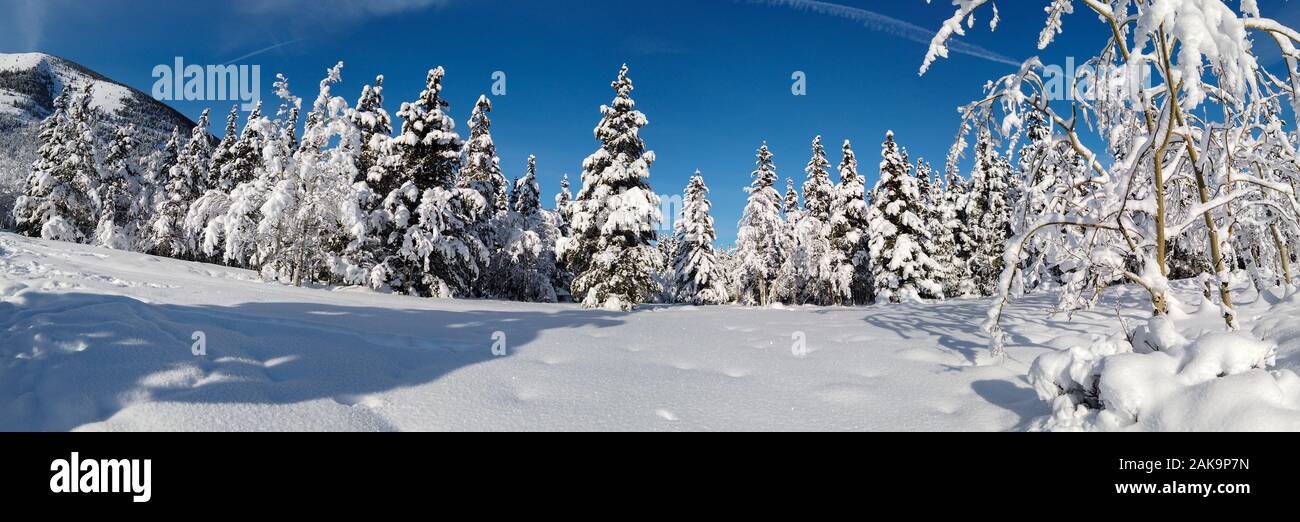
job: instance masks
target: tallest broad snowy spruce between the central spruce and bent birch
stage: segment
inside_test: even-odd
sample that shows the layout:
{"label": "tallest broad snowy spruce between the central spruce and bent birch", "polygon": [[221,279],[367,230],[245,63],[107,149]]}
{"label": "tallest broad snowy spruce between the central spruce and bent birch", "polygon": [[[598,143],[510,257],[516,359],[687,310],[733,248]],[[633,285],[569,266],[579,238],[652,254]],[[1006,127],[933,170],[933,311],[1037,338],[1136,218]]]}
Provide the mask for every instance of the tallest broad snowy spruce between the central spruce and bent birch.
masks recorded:
{"label": "tallest broad snowy spruce between the central spruce and bent birch", "polygon": [[932,277],[936,266],[924,248],[930,238],[920,183],[893,131],[885,134],[880,157],[880,179],[867,212],[875,296],[892,303],[940,297],[942,287]]}

